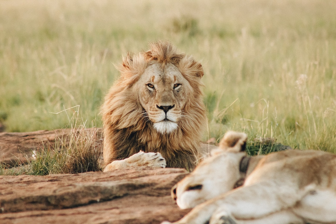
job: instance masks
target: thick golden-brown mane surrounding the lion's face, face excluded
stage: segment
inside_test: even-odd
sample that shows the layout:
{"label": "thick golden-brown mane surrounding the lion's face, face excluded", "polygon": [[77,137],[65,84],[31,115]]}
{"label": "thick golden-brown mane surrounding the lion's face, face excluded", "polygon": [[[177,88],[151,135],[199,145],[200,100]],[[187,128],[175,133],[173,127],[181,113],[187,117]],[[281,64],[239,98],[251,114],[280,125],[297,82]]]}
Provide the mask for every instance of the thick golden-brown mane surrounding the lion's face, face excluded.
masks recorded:
{"label": "thick golden-brown mane surrounding the lion's face, face excluded", "polygon": [[[120,78],[109,90],[101,107],[104,130],[103,156],[105,164],[122,160],[139,152],[160,152],[167,167],[195,167],[198,159],[201,133],[206,124],[205,106],[202,101],[202,65],[191,56],[177,53],[168,42],[150,45],[151,50],[127,54],[118,67]],[[153,123],[140,113],[143,111],[137,89],[132,88],[146,67],[155,62],[173,63],[192,86],[193,94],[183,108],[177,122],[178,128],[161,134]]]}

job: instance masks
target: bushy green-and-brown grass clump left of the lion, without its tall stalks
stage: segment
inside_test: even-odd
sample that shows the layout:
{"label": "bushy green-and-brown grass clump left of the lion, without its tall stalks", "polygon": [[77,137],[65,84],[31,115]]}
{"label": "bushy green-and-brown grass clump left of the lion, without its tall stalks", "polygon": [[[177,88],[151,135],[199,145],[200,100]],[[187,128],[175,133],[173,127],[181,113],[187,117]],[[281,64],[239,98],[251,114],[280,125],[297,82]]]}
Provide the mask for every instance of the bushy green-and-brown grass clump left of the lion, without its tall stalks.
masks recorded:
{"label": "bushy green-and-brown grass clump left of the lion, without its tall stalks", "polygon": [[101,171],[97,129],[72,128],[68,136],[56,139],[54,146],[44,145],[33,150],[32,155],[26,168],[28,175]]}

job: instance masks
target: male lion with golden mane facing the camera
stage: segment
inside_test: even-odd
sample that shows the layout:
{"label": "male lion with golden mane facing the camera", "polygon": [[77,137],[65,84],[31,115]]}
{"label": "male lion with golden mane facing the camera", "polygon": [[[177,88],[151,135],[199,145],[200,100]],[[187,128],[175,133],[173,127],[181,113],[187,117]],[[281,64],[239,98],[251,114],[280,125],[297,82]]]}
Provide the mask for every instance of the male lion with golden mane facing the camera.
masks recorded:
{"label": "male lion with golden mane facing the camera", "polygon": [[121,76],[101,107],[104,171],[129,166],[192,170],[206,124],[202,65],[158,42],[149,51],[128,54],[118,69]]}

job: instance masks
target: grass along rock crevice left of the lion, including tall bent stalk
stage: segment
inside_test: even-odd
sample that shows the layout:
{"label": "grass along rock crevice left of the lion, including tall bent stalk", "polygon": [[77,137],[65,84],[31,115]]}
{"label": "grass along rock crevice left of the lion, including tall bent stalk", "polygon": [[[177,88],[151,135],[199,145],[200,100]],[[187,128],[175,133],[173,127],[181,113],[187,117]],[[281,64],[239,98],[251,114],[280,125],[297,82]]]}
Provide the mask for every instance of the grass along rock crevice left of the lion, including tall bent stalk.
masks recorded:
{"label": "grass along rock crevice left of the lion, including tall bent stalk", "polygon": [[[79,106],[75,107],[78,107],[79,110]],[[78,110],[73,110],[72,117],[69,117],[67,110],[73,108],[59,112],[66,113],[70,133],[57,137],[53,144],[44,142],[41,148],[32,149],[31,155],[27,155],[28,164],[6,169],[5,165],[0,163],[0,175],[43,176],[101,171],[102,139],[98,133],[99,129],[87,128],[86,122],[79,118]],[[94,122],[92,122],[92,126],[95,126]]]}

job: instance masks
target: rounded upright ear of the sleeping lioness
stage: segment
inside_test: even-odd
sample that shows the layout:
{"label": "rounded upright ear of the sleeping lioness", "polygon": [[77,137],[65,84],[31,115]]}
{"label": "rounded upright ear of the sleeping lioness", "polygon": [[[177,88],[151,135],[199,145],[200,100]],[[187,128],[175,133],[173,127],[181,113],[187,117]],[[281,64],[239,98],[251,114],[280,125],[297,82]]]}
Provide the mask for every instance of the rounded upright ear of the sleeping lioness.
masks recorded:
{"label": "rounded upright ear of the sleeping lioness", "polygon": [[246,149],[247,135],[241,132],[228,131],[219,142],[219,148],[228,152],[240,152]]}

